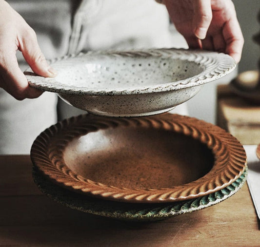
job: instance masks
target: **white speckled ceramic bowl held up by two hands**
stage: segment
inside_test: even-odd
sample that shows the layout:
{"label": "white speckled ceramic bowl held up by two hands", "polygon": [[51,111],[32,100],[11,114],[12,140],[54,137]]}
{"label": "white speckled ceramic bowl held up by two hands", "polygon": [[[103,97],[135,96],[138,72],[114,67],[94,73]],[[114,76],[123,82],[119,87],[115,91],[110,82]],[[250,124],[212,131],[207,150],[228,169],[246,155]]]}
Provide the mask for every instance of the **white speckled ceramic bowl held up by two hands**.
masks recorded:
{"label": "white speckled ceramic bowl held up by two hands", "polygon": [[50,63],[58,76],[26,71],[30,86],[58,93],[89,113],[113,117],[167,112],[236,67],[225,54],[181,49],[88,52]]}

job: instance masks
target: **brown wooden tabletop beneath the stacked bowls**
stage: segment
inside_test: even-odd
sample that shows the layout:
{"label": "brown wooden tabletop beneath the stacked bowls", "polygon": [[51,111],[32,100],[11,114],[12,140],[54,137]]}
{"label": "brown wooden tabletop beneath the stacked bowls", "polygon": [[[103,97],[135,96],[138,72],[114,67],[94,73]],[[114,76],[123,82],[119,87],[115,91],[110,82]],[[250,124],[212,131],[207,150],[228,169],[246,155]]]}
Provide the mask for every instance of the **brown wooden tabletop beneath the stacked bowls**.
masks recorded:
{"label": "brown wooden tabletop beneath the stacked bowls", "polygon": [[127,223],[68,209],[34,184],[27,155],[0,156],[0,246],[260,246],[247,185],[207,209]]}

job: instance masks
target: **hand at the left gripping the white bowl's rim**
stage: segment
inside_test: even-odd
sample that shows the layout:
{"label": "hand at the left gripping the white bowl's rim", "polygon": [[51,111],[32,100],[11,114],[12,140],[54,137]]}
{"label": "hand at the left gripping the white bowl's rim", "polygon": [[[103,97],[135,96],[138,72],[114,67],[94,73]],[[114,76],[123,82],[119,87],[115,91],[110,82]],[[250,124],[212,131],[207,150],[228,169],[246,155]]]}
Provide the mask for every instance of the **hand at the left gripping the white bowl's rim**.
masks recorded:
{"label": "hand at the left gripping the white bowl's rim", "polygon": [[0,87],[18,100],[36,98],[42,91],[29,86],[19,68],[17,50],[36,74],[56,76],[40,50],[34,30],[6,1],[0,0]]}

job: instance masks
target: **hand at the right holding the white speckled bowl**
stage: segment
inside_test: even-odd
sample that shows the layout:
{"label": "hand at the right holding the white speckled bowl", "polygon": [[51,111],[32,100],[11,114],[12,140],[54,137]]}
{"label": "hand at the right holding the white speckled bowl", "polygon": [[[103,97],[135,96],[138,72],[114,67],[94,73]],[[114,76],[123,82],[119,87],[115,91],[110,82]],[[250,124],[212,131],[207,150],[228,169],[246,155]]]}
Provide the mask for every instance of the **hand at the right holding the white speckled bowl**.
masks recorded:
{"label": "hand at the right holding the white speckled bowl", "polygon": [[163,0],[190,48],[223,52],[238,63],[244,44],[232,0]]}

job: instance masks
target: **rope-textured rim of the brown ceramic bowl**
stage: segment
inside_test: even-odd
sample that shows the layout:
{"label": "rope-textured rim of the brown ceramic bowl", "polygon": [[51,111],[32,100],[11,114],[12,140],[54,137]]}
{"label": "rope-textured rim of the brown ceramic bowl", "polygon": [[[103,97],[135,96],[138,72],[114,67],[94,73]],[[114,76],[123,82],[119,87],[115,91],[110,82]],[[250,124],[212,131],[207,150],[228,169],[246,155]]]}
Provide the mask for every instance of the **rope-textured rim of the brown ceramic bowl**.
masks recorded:
{"label": "rope-textured rim of the brown ceramic bowl", "polygon": [[[206,175],[191,183],[146,190],[107,186],[84,178],[66,166],[63,151],[73,138],[120,125],[152,127],[191,136],[212,151],[214,165]],[[245,151],[235,137],[215,125],[176,114],[139,118],[103,118],[90,114],[72,117],[42,132],[32,146],[31,158],[40,171],[70,190],[139,203],[181,201],[221,190],[238,179],[246,167]]]}

